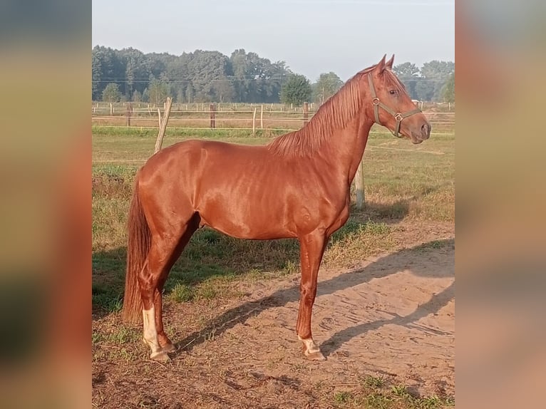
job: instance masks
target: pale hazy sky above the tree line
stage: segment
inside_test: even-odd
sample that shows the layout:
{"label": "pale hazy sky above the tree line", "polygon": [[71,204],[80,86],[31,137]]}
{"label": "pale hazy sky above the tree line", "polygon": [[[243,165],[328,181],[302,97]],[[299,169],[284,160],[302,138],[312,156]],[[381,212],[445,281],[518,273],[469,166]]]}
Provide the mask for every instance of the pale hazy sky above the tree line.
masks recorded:
{"label": "pale hazy sky above the tree line", "polygon": [[93,0],[93,46],[230,56],[237,48],[285,61],[315,81],[342,80],[395,54],[455,61],[455,0]]}

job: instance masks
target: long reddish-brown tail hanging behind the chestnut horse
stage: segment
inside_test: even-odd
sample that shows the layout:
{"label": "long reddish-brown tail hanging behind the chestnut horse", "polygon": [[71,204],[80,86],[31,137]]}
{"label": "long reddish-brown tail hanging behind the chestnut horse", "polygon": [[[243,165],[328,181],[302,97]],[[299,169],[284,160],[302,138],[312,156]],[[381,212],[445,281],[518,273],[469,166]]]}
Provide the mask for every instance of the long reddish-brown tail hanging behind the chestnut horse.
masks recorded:
{"label": "long reddish-brown tail hanging behind the chestnut horse", "polygon": [[135,180],[133,200],[128,219],[127,270],[125,296],[123,296],[123,321],[138,323],[142,317],[142,300],[138,286],[138,274],[143,269],[150,251],[150,228],[138,197],[138,174]]}

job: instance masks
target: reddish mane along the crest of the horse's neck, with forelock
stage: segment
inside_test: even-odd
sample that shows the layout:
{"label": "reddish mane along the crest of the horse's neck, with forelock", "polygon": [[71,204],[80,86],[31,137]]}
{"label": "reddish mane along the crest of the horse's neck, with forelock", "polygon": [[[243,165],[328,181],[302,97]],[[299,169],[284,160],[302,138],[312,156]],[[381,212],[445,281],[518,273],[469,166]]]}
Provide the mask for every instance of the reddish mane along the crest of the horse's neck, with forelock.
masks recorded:
{"label": "reddish mane along the crest of the horse's neck, with forelock", "polygon": [[[334,133],[346,127],[352,118],[362,108],[361,83],[368,84],[368,81],[361,81],[362,76],[367,75],[376,66],[365,68],[350,78],[337,93],[324,102],[316,111],[309,123],[300,130],[281,135],[267,145],[267,148],[279,156],[308,156],[316,152],[324,143],[324,140]],[[386,81],[392,86],[403,88],[398,78],[390,70]]]}

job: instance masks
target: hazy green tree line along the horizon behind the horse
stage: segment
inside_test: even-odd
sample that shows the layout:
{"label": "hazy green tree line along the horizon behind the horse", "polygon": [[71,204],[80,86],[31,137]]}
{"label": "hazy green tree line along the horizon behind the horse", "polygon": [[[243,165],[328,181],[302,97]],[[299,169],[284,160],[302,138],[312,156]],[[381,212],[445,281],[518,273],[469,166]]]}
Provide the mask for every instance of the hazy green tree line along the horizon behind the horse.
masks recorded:
{"label": "hazy green tree line along the horizon behind the horse", "polygon": [[[135,48],[92,49],[93,100],[131,100],[160,104],[167,97],[177,103],[322,103],[343,81],[336,73],[322,73],[314,83],[289,69],[284,61],[271,62],[244,49],[225,56],[218,51],[196,50],[173,56],[143,53]],[[413,63],[393,67],[411,98],[455,98],[455,64],[431,61],[417,68]],[[450,86],[453,82],[453,86]],[[453,95],[451,95],[453,94]]]}

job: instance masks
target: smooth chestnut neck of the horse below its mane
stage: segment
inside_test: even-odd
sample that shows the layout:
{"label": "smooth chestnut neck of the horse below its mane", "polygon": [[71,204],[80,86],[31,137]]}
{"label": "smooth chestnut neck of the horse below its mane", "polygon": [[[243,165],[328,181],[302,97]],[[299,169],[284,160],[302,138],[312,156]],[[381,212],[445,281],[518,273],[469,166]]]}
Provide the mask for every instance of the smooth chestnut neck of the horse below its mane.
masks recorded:
{"label": "smooth chestnut neck of the horse below its mane", "polygon": [[343,130],[331,135],[324,146],[324,158],[339,175],[352,182],[364,155],[371,125],[374,121],[359,113]]}

